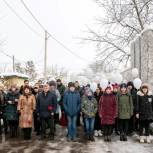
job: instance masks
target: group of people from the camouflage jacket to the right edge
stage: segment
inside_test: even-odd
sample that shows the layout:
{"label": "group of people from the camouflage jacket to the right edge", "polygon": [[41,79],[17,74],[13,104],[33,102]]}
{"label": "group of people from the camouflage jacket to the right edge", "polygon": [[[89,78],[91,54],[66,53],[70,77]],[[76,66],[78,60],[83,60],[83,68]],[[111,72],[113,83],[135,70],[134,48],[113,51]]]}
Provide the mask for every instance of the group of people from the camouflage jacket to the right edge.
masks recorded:
{"label": "group of people from the camouflage jacket to the right edge", "polygon": [[[128,134],[138,132],[140,143],[151,142],[149,127],[153,121],[153,95],[147,84],[143,84],[139,91],[134,89],[132,82],[108,85],[103,91],[97,88],[94,94],[87,89],[81,104],[87,139],[94,140],[96,127],[95,136],[102,128],[104,141],[111,141],[115,129],[120,141],[127,141]],[[97,128],[97,124],[101,125]]]}

